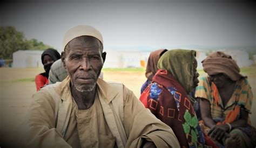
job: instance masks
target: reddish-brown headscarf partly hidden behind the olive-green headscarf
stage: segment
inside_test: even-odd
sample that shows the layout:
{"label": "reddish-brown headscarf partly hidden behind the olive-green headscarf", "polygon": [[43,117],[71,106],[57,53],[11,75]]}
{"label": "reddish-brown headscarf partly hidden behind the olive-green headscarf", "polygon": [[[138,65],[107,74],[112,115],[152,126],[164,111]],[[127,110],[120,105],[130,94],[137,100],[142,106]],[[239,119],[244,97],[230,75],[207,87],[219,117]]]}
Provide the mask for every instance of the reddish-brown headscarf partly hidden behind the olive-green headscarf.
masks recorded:
{"label": "reddish-brown headscarf partly hidden behind the olive-green headscarf", "polygon": [[168,50],[161,49],[157,51],[153,51],[150,53],[149,60],[147,60],[147,67],[146,67],[146,77],[147,79],[152,81],[153,76],[157,73],[157,62],[160,59],[161,55]]}

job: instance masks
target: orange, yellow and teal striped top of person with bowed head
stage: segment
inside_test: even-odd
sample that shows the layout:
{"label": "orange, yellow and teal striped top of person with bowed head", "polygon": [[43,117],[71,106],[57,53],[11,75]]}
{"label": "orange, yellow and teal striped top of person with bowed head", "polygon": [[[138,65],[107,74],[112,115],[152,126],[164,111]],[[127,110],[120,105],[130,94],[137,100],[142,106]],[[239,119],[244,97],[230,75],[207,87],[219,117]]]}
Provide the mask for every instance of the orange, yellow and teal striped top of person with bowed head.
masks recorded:
{"label": "orange, yellow and teal striped top of person with bowed head", "polygon": [[[207,76],[200,77],[195,96],[205,98],[210,102],[212,118],[226,118],[228,113],[234,110],[237,105],[239,105],[240,109],[243,109],[251,114],[253,94],[251,91],[251,86],[245,77],[237,81],[235,84],[234,93],[225,107],[221,99],[220,103],[217,105],[213,97],[213,85]],[[237,119],[239,117],[240,112],[237,116]],[[248,118],[248,123],[250,123],[250,117]]]}

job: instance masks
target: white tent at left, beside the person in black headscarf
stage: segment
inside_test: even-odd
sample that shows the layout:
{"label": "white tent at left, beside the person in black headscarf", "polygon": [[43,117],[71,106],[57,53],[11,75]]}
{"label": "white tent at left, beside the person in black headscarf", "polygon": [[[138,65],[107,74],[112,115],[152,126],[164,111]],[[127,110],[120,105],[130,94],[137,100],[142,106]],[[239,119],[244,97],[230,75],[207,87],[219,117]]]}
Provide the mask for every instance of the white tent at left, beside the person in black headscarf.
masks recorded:
{"label": "white tent at left, beside the person in black headscarf", "polygon": [[17,51],[12,53],[12,67],[43,67],[41,55],[43,51]]}

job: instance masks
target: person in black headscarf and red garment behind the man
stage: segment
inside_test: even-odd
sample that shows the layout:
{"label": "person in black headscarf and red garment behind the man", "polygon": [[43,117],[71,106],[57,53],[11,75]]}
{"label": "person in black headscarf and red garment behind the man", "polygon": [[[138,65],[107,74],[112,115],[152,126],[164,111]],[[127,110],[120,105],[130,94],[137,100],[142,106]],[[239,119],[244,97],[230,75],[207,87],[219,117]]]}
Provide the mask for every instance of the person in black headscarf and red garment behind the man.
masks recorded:
{"label": "person in black headscarf and red garment behind the man", "polygon": [[42,64],[44,65],[45,72],[38,74],[35,78],[37,91],[49,83],[48,77],[49,77],[51,65],[53,64],[53,62],[55,62],[58,59],[60,59],[60,54],[55,49],[48,48],[42,53],[41,60],[42,60]]}

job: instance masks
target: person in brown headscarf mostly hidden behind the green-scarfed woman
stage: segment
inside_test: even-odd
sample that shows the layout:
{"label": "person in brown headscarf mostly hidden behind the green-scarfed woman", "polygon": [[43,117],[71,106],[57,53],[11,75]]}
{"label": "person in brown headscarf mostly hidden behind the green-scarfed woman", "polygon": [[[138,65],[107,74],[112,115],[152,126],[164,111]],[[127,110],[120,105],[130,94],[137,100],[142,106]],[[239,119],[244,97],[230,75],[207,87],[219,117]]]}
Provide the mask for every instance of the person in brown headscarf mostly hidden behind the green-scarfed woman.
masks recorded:
{"label": "person in brown headscarf mostly hidden behind the green-scarfed woman", "polygon": [[147,86],[149,86],[149,84],[151,83],[154,74],[156,74],[158,70],[157,62],[161,55],[163,55],[166,51],[168,50],[157,50],[150,53],[150,57],[147,60],[147,67],[145,73],[147,80],[145,83],[143,83],[142,88],[140,88],[140,94],[142,94]]}

